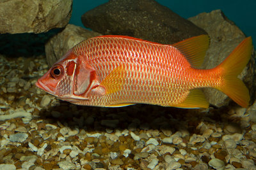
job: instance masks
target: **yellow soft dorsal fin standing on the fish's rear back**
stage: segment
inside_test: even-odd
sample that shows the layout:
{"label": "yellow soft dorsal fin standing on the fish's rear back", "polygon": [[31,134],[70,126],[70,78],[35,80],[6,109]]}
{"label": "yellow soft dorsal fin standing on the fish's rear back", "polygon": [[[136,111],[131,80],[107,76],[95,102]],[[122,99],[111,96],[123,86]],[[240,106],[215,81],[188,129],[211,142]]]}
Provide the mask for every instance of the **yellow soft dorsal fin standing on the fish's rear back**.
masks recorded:
{"label": "yellow soft dorsal fin standing on the fish's rear back", "polygon": [[182,52],[191,66],[199,67],[204,62],[205,53],[209,47],[209,36],[201,35],[192,38],[184,39],[173,44]]}

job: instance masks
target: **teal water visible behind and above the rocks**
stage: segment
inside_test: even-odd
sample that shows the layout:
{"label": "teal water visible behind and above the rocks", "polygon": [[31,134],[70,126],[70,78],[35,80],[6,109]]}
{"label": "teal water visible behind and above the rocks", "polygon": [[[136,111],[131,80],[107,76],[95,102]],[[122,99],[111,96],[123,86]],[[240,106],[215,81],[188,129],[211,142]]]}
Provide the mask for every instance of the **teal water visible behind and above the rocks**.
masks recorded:
{"label": "teal water visible behind and above the rocks", "polygon": [[[100,4],[107,3],[108,0],[74,0],[72,17],[70,24],[84,27],[81,16],[88,10],[92,10]],[[256,45],[256,1],[255,0],[157,0],[158,3],[167,6],[181,17],[189,18],[198,13],[210,12],[212,10],[222,10],[225,15],[236,23],[236,25],[246,34],[252,36],[253,45]]]}

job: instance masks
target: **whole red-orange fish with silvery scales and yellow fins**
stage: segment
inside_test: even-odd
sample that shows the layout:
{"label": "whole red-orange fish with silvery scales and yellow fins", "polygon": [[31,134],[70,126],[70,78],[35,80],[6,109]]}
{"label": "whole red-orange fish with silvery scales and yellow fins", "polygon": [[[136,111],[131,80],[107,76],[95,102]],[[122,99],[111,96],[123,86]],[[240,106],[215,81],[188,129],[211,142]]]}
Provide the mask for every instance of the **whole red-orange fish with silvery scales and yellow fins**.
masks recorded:
{"label": "whole red-orange fish with silvery scales and yellow fins", "polygon": [[173,45],[129,36],[97,36],[71,48],[36,86],[78,105],[177,108],[208,108],[202,88],[211,87],[247,108],[250,95],[237,76],[252,56],[252,38],[245,38],[220,65],[200,69],[209,42],[208,35]]}

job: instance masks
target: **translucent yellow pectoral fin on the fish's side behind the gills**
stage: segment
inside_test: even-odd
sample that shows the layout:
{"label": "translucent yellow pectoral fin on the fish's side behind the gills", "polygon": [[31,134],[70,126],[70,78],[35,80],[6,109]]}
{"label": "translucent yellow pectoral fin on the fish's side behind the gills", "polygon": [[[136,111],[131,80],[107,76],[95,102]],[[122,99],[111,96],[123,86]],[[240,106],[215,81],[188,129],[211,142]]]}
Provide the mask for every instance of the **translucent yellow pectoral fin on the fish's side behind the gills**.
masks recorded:
{"label": "translucent yellow pectoral fin on the fish's side behind the gills", "polygon": [[124,87],[125,72],[123,66],[118,66],[102,80],[100,85],[105,87],[106,94],[113,94]]}

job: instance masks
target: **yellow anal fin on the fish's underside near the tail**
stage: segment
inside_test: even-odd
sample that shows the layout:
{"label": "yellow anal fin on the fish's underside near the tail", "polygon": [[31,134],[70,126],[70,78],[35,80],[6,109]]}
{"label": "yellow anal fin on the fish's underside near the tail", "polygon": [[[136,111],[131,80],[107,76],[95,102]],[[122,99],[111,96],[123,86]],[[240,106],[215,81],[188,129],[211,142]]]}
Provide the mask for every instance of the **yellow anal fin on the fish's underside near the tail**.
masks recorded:
{"label": "yellow anal fin on the fish's underside near the tail", "polygon": [[204,93],[200,89],[192,89],[189,91],[185,101],[172,106],[177,108],[208,108],[209,103],[206,101]]}

